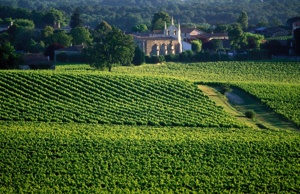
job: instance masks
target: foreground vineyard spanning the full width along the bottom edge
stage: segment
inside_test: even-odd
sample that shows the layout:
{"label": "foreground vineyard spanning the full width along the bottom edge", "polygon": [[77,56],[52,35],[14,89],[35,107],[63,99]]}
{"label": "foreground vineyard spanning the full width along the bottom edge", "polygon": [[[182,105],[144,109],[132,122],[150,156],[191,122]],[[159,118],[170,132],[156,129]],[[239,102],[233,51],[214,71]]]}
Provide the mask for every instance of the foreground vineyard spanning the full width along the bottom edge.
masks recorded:
{"label": "foreground vineyard spanning the full width along the bottom edge", "polygon": [[299,193],[285,130],[0,121],[0,193]]}

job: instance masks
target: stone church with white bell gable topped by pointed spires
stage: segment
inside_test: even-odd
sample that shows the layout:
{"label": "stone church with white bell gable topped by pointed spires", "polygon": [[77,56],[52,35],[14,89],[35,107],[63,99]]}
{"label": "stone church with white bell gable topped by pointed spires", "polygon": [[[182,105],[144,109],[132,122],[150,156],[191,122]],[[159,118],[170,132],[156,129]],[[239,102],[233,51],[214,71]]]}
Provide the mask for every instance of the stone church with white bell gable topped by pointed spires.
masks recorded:
{"label": "stone church with white bell gable topped by pointed spires", "polygon": [[[155,31],[152,32],[155,33]],[[173,16],[169,28],[167,28],[167,23],[165,22],[165,29],[156,32],[160,35],[153,36],[150,33],[148,37],[134,37],[136,45],[144,51],[145,55],[167,55],[169,53],[178,55],[182,52],[180,23],[178,22],[178,28],[176,28]]]}

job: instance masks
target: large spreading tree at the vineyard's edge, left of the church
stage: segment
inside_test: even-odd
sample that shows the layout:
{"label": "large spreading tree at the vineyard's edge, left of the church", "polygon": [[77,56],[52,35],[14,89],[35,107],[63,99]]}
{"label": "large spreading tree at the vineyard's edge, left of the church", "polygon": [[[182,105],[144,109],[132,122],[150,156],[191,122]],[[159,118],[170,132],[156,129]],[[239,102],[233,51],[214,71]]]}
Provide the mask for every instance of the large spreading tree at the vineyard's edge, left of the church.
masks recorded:
{"label": "large spreading tree at the vineyard's edge, left of the church", "polygon": [[116,26],[106,32],[104,29],[93,35],[93,44],[88,48],[90,66],[97,70],[108,68],[111,71],[114,65],[128,65],[134,55],[134,41],[131,35],[123,34]]}

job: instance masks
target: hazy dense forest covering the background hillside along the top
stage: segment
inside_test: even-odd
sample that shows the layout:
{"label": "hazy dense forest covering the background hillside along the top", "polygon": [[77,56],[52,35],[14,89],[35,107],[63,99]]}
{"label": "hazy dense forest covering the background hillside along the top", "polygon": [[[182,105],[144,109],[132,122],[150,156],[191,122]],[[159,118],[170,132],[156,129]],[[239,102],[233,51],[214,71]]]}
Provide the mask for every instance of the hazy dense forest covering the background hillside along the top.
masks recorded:
{"label": "hazy dense forest covering the background hillside along the top", "polygon": [[[37,20],[32,15],[43,16],[49,8],[52,11],[55,8],[61,14],[57,21],[68,25],[70,15],[79,7],[84,24],[95,27],[105,20],[124,31],[130,31],[132,26],[140,23],[149,26],[152,16],[159,11],[173,15],[184,26],[209,28],[220,23],[236,22],[242,10],[247,12],[249,25],[265,21],[272,26],[274,18],[277,23],[280,20],[285,25],[286,20],[298,16],[300,10],[298,0],[0,0],[0,4],[1,19]],[[44,21],[40,19],[35,24],[40,22]]]}

